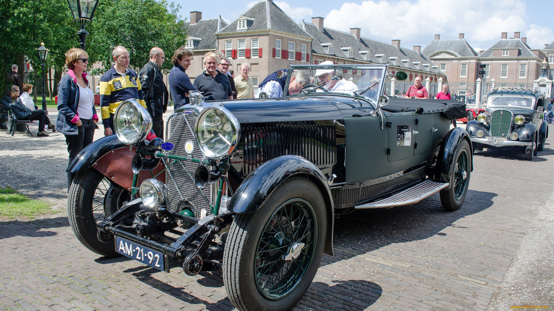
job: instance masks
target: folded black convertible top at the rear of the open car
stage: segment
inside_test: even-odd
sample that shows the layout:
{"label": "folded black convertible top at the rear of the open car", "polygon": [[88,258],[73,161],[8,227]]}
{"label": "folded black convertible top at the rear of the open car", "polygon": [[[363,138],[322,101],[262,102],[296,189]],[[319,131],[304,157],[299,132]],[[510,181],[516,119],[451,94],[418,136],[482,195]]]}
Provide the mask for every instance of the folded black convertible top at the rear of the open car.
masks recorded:
{"label": "folded black convertible top at the rear of the open car", "polygon": [[399,99],[392,97],[389,104],[383,107],[383,110],[388,112],[443,112],[444,117],[448,120],[465,118],[465,103],[456,100]]}

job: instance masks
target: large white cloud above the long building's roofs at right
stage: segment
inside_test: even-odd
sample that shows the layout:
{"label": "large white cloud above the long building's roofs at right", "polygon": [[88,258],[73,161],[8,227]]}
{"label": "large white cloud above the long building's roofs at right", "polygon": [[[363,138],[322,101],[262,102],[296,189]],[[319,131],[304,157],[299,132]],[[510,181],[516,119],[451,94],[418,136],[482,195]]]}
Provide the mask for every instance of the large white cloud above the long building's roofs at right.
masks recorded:
{"label": "large white cloud above the long building's roofs at right", "polygon": [[424,47],[434,34],[440,34],[441,39],[458,39],[459,33],[465,33],[470,45],[479,46],[493,45],[502,32],[509,38],[514,32],[521,32],[522,37],[526,34],[532,48],[552,42],[551,28],[528,25],[525,11],[526,4],[520,0],[347,2],[327,14],[325,26],[345,32],[359,27],[364,37],[386,43],[401,39],[402,46]]}

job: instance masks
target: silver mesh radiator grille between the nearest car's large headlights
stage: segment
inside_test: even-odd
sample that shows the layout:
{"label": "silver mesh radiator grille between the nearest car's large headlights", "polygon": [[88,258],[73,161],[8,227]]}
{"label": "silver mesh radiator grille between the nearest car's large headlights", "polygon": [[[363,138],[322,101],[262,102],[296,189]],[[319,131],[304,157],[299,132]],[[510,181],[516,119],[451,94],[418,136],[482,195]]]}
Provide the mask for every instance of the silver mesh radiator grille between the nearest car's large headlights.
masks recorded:
{"label": "silver mesh radiator grille between the nearest car's large headlights", "polygon": [[[192,141],[194,144],[192,157],[195,159],[203,158],[202,152],[194,139],[194,133],[191,131],[191,129],[194,129],[196,117],[192,113],[179,113],[169,118],[166,127],[166,142],[172,143],[175,148],[168,151],[168,154],[190,157],[191,155],[184,151],[184,144],[187,141]],[[170,165],[174,161],[173,159],[166,159],[166,164]],[[182,165],[179,163],[173,164],[168,169],[168,174],[166,174],[168,209],[172,212],[177,211],[178,205],[184,200],[192,205],[197,218],[201,217],[202,210],[206,210],[206,215],[212,214],[210,203],[213,202],[215,184],[209,184],[202,190],[199,189],[194,183],[194,172],[200,164],[191,161],[182,161],[181,163]]]}

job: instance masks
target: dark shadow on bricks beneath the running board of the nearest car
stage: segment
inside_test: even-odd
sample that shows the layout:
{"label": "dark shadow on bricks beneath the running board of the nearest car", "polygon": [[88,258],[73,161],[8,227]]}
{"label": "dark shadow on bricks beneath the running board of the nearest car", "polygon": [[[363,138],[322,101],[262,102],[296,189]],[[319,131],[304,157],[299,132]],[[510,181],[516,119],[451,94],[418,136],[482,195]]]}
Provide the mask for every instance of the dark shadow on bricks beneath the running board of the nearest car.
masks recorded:
{"label": "dark shadow on bricks beneath the running board of the nearest car", "polygon": [[457,211],[445,211],[439,194],[414,205],[391,209],[357,210],[335,220],[335,256],[325,255],[321,265],[363,255],[392,243],[427,239],[455,221],[493,205],[495,193],[468,190]]}

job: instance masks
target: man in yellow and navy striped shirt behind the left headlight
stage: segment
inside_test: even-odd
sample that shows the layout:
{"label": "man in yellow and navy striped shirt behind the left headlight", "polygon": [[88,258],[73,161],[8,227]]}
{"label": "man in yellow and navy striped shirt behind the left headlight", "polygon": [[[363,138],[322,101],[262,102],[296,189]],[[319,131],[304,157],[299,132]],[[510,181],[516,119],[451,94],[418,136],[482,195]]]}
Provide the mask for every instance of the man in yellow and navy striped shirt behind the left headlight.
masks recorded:
{"label": "man in yellow and navy striped shirt behind the left headlight", "polygon": [[100,77],[100,111],[104,136],[114,134],[114,113],[122,101],[136,99],[146,107],[142,96],[139,76],[129,69],[129,51],[124,46],[116,46],[111,52],[115,64]]}

